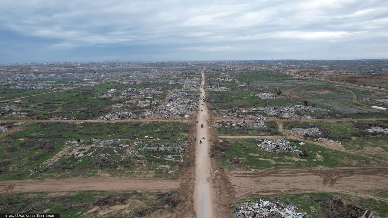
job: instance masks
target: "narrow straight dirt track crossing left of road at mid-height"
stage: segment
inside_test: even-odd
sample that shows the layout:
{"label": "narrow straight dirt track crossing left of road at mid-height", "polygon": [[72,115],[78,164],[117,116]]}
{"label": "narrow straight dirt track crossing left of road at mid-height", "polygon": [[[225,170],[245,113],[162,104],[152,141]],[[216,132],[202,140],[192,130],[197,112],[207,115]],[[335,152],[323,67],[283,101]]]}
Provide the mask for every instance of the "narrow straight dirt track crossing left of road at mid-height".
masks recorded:
{"label": "narrow straight dirt track crossing left of road at mid-height", "polygon": [[26,123],[130,123],[130,122],[183,122],[189,123],[189,119],[116,119],[116,120],[99,120],[99,119],[0,119],[0,122],[26,122]]}

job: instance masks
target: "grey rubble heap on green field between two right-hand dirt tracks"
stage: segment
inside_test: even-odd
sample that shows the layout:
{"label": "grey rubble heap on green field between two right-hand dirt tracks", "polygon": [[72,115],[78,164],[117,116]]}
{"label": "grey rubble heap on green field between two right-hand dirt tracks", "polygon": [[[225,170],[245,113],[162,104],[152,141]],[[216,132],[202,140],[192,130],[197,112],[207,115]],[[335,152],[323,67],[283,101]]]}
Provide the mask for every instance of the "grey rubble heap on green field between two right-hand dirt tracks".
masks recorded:
{"label": "grey rubble heap on green field between two right-hand dirt tracks", "polygon": [[290,142],[284,140],[284,139],[277,139],[277,140],[256,140],[257,146],[261,147],[263,151],[279,154],[279,153],[295,153],[299,156],[308,156],[308,154],[305,151],[299,151],[296,149],[296,146],[292,146]]}

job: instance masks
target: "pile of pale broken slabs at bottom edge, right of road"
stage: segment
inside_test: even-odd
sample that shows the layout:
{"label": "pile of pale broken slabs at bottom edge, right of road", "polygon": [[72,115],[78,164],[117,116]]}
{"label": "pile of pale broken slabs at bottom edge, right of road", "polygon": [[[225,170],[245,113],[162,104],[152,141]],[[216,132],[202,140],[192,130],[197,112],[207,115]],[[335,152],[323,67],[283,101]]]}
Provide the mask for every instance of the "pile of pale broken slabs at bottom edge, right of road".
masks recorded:
{"label": "pile of pale broken slabs at bottom edge, right of road", "polygon": [[298,208],[294,204],[284,205],[282,202],[263,201],[262,199],[258,202],[244,202],[238,204],[235,211],[234,218],[264,218],[269,216],[302,218],[307,214],[306,212],[298,212]]}

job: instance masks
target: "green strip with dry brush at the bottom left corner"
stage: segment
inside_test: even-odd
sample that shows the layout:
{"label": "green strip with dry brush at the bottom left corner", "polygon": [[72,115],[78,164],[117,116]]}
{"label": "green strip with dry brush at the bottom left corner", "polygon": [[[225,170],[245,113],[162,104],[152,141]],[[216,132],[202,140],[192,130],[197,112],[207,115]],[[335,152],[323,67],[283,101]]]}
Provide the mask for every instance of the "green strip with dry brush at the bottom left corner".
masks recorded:
{"label": "green strip with dry brush at the bottom left corner", "polygon": [[[62,217],[135,217],[144,211],[145,215],[157,210],[155,204],[163,206],[162,210],[174,213],[177,191],[171,192],[111,192],[111,191],[77,191],[59,192],[51,195],[50,192],[8,194],[0,198],[7,207],[7,211],[19,211],[23,206],[36,205],[36,209],[28,213],[59,213]],[[167,207],[165,202],[169,202]],[[118,206],[122,209],[118,209]],[[151,209],[153,208],[153,209]],[[167,209],[167,210],[166,210]],[[23,210],[23,209],[22,209]],[[145,212],[148,210],[148,212]],[[95,211],[95,212],[93,212]],[[99,214],[101,213],[101,215]],[[137,217],[136,216],[136,217]]]}

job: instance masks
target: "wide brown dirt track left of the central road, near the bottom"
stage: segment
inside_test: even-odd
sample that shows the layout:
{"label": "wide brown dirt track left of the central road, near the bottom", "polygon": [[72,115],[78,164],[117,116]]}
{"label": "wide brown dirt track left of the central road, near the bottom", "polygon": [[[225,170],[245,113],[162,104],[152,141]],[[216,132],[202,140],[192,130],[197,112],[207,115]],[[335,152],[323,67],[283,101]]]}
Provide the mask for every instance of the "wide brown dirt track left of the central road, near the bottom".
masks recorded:
{"label": "wide brown dirt track left of the central road, near the bottom", "polygon": [[179,182],[168,178],[60,178],[0,181],[0,194],[18,192],[67,192],[67,191],[168,191],[177,190]]}

